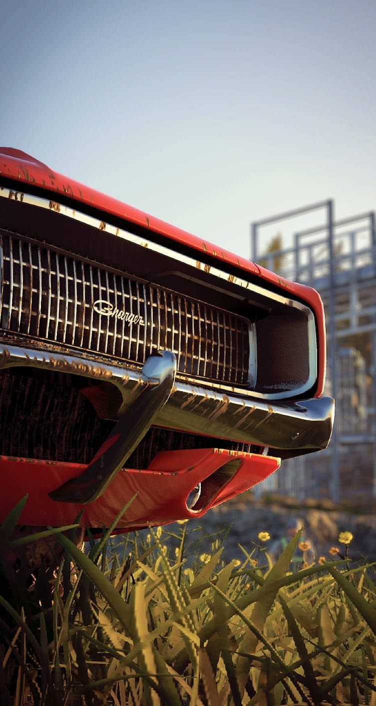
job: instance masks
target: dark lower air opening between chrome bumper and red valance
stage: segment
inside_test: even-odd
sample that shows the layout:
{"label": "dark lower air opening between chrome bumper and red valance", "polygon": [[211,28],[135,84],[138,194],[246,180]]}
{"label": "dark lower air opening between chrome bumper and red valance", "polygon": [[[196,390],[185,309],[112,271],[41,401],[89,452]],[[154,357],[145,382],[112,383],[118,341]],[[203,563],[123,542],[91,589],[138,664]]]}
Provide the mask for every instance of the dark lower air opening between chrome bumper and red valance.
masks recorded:
{"label": "dark lower air opening between chrome bumper and red valance", "polygon": [[[32,376],[21,369],[1,373],[0,455],[90,463],[114,422],[99,419],[89,400],[67,383],[63,373]],[[147,468],[158,451],[218,446],[261,453],[260,447],[246,443],[151,427],[126,466]]]}

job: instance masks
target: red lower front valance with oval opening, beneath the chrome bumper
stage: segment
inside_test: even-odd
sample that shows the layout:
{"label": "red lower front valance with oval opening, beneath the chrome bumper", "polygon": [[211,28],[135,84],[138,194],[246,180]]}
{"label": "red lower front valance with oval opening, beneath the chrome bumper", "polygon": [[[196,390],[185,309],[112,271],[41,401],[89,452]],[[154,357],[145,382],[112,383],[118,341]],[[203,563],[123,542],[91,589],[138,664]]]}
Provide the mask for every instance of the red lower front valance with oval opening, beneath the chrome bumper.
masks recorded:
{"label": "red lower front valance with oval opening, beneath the chrome bumper", "polygon": [[[20,525],[109,527],[121,508],[136,494],[117,527],[124,530],[166,525],[201,517],[207,510],[252,488],[279,468],[279,458],[221,449],[164,451],[145,470],[123,469],[96,501],[83,505],[53,501],[49,493],[86,469],[83,464],[13,459],[0,456],[0,515],[4,517],[28,493]],[[187,497],[201,483],[195,510]],[[20,489],[22,488],[22,493]]]}

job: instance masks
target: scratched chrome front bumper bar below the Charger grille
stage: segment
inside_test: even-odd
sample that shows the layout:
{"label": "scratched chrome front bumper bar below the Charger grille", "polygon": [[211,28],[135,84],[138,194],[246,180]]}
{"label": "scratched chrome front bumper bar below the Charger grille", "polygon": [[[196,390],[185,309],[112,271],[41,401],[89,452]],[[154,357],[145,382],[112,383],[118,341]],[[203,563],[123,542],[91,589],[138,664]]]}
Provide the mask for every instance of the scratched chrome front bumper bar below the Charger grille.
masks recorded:
{"label": "scratched chrome front bumper bar below the Charger grille", "polygon": [[[61,355],[45,350],[0,345],[0,369],[30,366],[104,380],[120,391],[117,417],[150,378],[132,369],[109,366],[103,361]],[[145,371],[145,366],[142,369]],[[155,381],[157,384],[157,381]],[[214,390],[176,382],[155,424],[169,429],[217,436],[233,441],[287,451],[322,450],[329,443],[334,419],[332,397],[269,405],[267,402],[219,395]]]}

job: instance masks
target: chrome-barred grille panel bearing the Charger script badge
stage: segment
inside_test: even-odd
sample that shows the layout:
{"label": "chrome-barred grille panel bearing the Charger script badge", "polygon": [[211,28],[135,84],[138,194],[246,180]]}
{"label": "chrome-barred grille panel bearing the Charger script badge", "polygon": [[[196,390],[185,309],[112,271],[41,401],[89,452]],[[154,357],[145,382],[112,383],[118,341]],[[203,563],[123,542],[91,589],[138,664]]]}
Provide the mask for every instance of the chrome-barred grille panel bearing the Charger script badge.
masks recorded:
{"label": "chrome-barred grille panel bearing the Charger script badge", "polygon": [[138,363],[172,350],[180,373],[248,382],[241,316],[8,232],[0,232],[0,265],[3,329]]}

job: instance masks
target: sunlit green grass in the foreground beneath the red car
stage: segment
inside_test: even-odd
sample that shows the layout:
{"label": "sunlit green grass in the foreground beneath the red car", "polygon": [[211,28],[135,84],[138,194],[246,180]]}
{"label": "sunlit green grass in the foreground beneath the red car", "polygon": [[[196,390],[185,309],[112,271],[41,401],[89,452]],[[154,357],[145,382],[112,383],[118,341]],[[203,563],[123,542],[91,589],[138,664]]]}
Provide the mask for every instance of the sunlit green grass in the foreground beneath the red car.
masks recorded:
{"label": "sunlit green grass in the foreground beneath the red car", "polygon": [[55,572],[26,585],[1,559],[1,706],[376,705],[372,566],[291,570],[299,533],[274,566],[267,543],[242,562],[217,540],[188,556],[189,525],[174,527],[116,546],[110,528],[86,553],[60,533]]}

